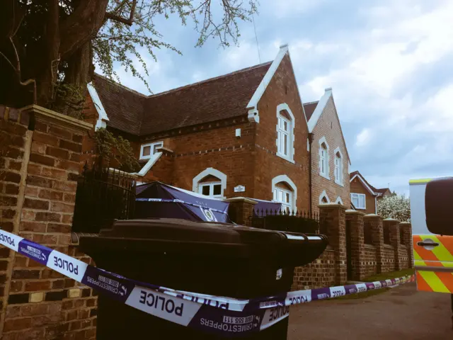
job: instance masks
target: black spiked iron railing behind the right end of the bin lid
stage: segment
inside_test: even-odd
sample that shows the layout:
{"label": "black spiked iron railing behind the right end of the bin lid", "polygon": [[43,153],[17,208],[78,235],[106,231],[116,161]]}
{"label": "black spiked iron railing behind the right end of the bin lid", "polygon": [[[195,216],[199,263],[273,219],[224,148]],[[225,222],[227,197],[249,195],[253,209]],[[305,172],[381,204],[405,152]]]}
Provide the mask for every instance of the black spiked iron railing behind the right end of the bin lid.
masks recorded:
{"label": "black spiked iron railing behind the right end of the bin lid", "polygon": [[327,234],[326,225],[319,214],[306,211],[287,212],[285,210],[253,210],[251,226],[260,229],[302,232],[307,234]]}

